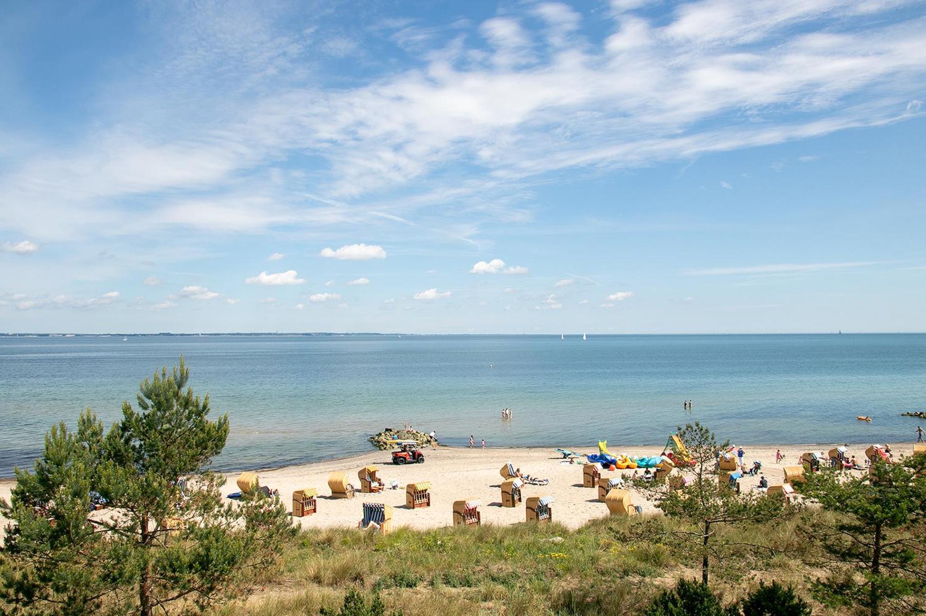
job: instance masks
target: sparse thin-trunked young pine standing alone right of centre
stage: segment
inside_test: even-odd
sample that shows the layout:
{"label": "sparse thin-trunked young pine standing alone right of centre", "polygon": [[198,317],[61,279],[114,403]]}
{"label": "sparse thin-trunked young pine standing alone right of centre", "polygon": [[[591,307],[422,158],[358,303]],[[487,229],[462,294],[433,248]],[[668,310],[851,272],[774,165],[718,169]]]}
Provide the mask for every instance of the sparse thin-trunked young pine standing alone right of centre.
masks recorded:
{"label": "sparse thin-trunked young pine standing alone right of centre", "polygon": [[[729,447],[729,442],[718,444],[717,437],[706,426],[697,422],[679,426],[679,437],[691,455],[694,466],[693,481],[683,489],[672,489],[668,482],[650,485],[638,482],[637,486],[657,500],[657,507],[669,517],[678,518],[688,525],[668,533],[659,533],[659,540],[673,543],[678,548],[696,553],[701,560],[701,581],[707,584],[711,559],[719,561],[732,546],[740,541],[725,541],[718,535],[723,524],[761,524],[795,512],[782,499],[764,494],[737,494],[716,468],[717,453]],[[755,544],[754,548],[770,551],[768,546]]]}

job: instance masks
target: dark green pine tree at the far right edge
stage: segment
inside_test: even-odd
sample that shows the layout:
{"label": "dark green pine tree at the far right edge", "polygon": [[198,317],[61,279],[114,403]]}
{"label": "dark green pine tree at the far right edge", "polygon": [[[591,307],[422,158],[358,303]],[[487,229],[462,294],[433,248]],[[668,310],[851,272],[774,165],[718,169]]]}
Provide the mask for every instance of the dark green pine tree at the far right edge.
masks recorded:
{"label": "dark green pine tree at the far right edge", "polygon": [[801,490],[836,514],[805,529],[828,557],[822,564],[829,575],[813,585],[820,601],[872,616],[882,606],[901,613],[926,608],[926,455],[874,462],[867,477],[822,470]]}

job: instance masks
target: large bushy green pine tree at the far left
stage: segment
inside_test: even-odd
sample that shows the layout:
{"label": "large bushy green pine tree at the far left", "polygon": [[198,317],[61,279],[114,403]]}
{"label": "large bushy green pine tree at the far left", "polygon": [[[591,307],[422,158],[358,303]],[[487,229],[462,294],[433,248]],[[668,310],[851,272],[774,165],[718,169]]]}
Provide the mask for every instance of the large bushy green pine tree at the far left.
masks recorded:
{"label": "large bushy green pine tree at the far left", "polygon": [[[52,426],[33,472],[16,469],[5,514],[15,524],[0,565],[0,607],[76,616],[167,613],[232,596],[245,569],[268,567],[294,536],[278,499],[223,502],[207,470],[228,417],[186,388],[182,358],[145,379],[108,432],[93,413]],[[91,494],[108,509],[92,513]],[[6,607],[5,607],[6,606]]]}

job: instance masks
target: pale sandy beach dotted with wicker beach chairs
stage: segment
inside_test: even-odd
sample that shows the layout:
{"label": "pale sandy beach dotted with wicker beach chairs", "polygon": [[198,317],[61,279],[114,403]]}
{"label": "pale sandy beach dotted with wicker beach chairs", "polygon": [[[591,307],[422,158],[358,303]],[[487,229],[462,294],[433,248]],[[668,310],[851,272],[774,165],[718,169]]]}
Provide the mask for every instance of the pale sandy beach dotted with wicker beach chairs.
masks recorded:
{"label": "pale sandy beach dotted with wicker beach chairs", "polygon": [[[753,461],[762,462],[763,474],[771,485],[781,483],[782,466],[798,463],[805,451],[827,451],[835,445],[744,445],[745,463],[750,466]],[[913,451],[911,443],[892,444],[895,456],[909,454]],[[597,451],[597,447],[569,448],[582,453]],[[775,463],[775,451],[782,450],[784,460]],[[626,453],[630,456],[655,455],[661,448],[620,447],[609,445],[611,453]],[[850,452],[858,460],[864,461],[865,447],[850,446]],[[453,502],[458,499],[479,499],[482,501],[482,524],[517,524],[524,521],[523,504],[515,508],[501,506],[500,484],[502,477],[499,469],[506,462],[512,462],[524,474],[548,478],[544,487],[525,486],[523,497],[552,496],[554,498],[553,514],[557,522],[570,528],[581,526],[594,518],[607,515],[605,504],[597,500],[594,489],[582,487],[582,464],[564,461],[556,450],[551,448],[528,449],[494,449],[439,447],[437,450],[423,450],[426,462],[395,466],[390,460],[389,451],[371,451],[369,453],[327,462],[313,462],[288,466],[259,472],[260,483],[279,490],[287,509],[292,506],[294,490],[304,487],[316,487],[319,490],[318,513],[295,518],[303,528],[320,528],[326,526],[354,526],[361,518],[362,503],[365,501],[383,502],[394,508],[394,526],[409,526],[418,529],[436,528],[452,524]],[[378,466],[380,477],[387,489],[378,494],[361,494],[357,471],[369,464]],[[254,469],[251,469],[254,470]],[[354,499],[332,499],[328,487],[328,476],[334,471],[345,471],[351,482],[357,487]],[[632,473],[617,471],[613,474]],[[237,474],[227,474],[223,495],[238,491],[235,485]],[[745,476],[742,480],[744,490],[757,486],[759,476]],[[397,482],[399,489],[389,489],[391,482]],[[409,510],[406,508],[405,487],[410,482],[430,481],[432,483],[432,506]],[[0,480],[0,498],[9,499],[12,479]],[[656,511],[653,503],[644,499],[640,493],[634,493],[633,504],[643,507],[644,511]],[[6,520],[0,518],[6,526]]]}

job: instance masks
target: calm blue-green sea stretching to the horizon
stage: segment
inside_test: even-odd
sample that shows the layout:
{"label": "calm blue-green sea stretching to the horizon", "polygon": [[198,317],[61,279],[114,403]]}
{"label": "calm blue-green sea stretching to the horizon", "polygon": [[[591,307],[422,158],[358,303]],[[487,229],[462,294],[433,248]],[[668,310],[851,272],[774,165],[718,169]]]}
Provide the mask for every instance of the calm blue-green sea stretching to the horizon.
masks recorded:
{"label": "calm blue-green sea stretching to the horizon", "polygon": [[920,334],[0,338],[0,476],[31,464],[53,422],[117,419],[181,353],[231,418],[226,470],[362,452],[404,422],[489,446],[661,448],[692,419],[747,443],[867,443],[912,440],[918,420],[899,413],[926,409]]}

